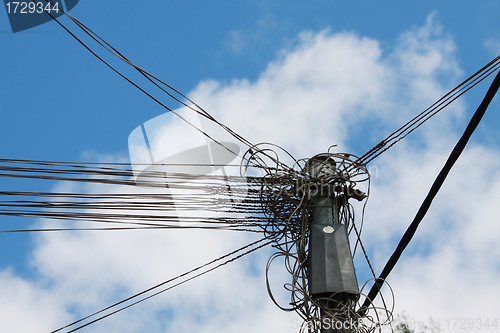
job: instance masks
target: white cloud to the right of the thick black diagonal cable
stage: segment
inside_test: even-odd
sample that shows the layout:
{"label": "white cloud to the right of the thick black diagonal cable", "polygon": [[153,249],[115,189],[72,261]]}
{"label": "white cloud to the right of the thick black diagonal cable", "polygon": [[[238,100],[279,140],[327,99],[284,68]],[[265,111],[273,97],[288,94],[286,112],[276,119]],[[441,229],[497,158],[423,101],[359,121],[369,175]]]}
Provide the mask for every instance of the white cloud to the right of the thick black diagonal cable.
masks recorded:
{"label": "white cloud to the right of the thick black diagonal cable", "polygon": [[498,151],[483,147],[468,148],[457,162],[409,249],[420,253],[403,260],[391,277],[400,309],[440,319],[443,328],[451,318],[496,318],[499,167]]}

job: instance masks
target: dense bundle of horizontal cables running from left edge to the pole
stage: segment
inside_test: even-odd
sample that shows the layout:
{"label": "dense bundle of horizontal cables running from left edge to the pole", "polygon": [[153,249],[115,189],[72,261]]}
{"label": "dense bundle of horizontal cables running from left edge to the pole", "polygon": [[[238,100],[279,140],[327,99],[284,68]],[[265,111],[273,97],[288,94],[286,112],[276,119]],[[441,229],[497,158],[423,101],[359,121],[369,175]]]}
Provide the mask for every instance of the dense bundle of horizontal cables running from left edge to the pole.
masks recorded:
{"label": "dense bundle of horizontal cables running from left edge to the pole", "polygon": [[[81,187],[65,192],[4,189],[0,191],[0,215],[60,220],[65,224],[37,229],[13,228],[10,224],[10,228],[2,228],[0,233],[168,228],[263,233],[265,218],[258,214],[258,177],[247,180],[224,175],[172,173],[168,175],[167,184],[164,173],[151,172],[148,188],[141,188],[129,167],[120,163],[0,159],[1,178],[99,184],[98,193],[82,193]],[[69,221],[79,224],[69,224]],[[87,224],[91,227],[85,227]]]}

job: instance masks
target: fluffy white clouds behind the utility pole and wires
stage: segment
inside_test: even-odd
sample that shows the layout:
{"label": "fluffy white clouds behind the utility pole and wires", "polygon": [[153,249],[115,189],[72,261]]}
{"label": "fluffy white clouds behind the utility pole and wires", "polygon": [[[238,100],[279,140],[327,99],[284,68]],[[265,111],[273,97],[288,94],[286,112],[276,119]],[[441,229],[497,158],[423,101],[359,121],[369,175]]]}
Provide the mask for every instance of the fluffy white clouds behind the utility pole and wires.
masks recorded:
{"label": "fluffy white clouds behind the utility pole and wires", "polygon": [[[255,82],[205,81],[190,97],[250,141],[273,142],[302,158],[332,144],[342,152],[371,147],[443,95],[460,75],[454,44],[431,16],[424,27],[403,33],[390,52],[354,33],[304,32]],[[378,177],[363,239],[377,273],[458,138],[454,124],[462,113],[463,105],[455,103],[374,162]],[[220,134],[207,131],[216,138]],[[441,321],[495,315],[499,163],[499,152],[491,148],[466,150],[390,276],[398,311]],[[88,191],[125,190],[92,185]],[[44,332],[68,323],[70,312],[100,309],[254,239],[222,231],[40,235],[33,265],[50,288],[3,272],[7,296],[0,298],[0,307],[12,304],[9,323],[32,325],[17,332]],[[267,296],[263,272],[269,254],[260,251],[228,264],[89,331],[297,332],[297,316],[280,311]],[[286,275],[275,274],[275,292],[286,301],[280,289]],[[22,297],[14,299],[16,294]],[[0,325],[4,316],[0,311]]]}

